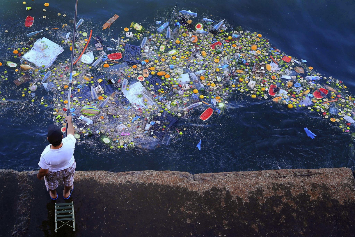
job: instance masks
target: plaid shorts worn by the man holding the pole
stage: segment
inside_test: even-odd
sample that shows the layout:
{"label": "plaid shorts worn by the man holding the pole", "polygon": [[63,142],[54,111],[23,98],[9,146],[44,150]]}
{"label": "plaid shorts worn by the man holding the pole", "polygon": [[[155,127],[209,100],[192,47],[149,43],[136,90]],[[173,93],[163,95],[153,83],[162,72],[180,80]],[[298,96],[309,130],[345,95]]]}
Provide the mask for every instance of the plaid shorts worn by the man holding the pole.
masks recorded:
{"label": "plaid shorts worn by the man holding the pole", "polygon": [[44,177],[44,183],[47,189],[54,190],[58,188],[59,182],[63,181],[64,185],[67,187],[71,187],[74,183],[74,173],[75,173],[76,163],[74,163],[71,167],[63,170],[59,170],[57,172],[49,171],[48,174]]}

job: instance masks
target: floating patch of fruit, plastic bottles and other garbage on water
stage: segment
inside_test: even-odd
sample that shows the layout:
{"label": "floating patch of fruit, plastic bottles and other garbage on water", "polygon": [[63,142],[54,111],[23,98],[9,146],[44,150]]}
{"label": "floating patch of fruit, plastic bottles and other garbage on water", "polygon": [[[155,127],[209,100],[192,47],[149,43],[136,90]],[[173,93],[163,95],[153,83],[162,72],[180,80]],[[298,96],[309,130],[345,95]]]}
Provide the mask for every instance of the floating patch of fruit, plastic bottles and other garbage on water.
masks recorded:
{"label": "floating patch of fruit, plastic bottles and other garbage on water", "polygon": [[[47,107],[65,132],[70,59],[58,56],[74,50],[70,113],[79,142],[97,137],[111,148],[166,146],[184,133],[176,126],[180,117],[191,111],[201,122],[223,116],[233,94],[309,110],[355,137],[354,99],[343,81],[272,47],[260,33],[189,10],[148,26],[132,22],[111,39],[105,29],[119,24],[118,15],[103,22],[102,30],[86,24],[76,24],[75,42],[73,22],[17,37],[9,48],[13,56],[1,62],[1,86],[20,89],[24,99]],[[14,84],[7,80],[10,73],[17,75]],[[36,90],[53,98],[37,98]],[[2,103],[11,100],[6,93],[1,97]]]}

